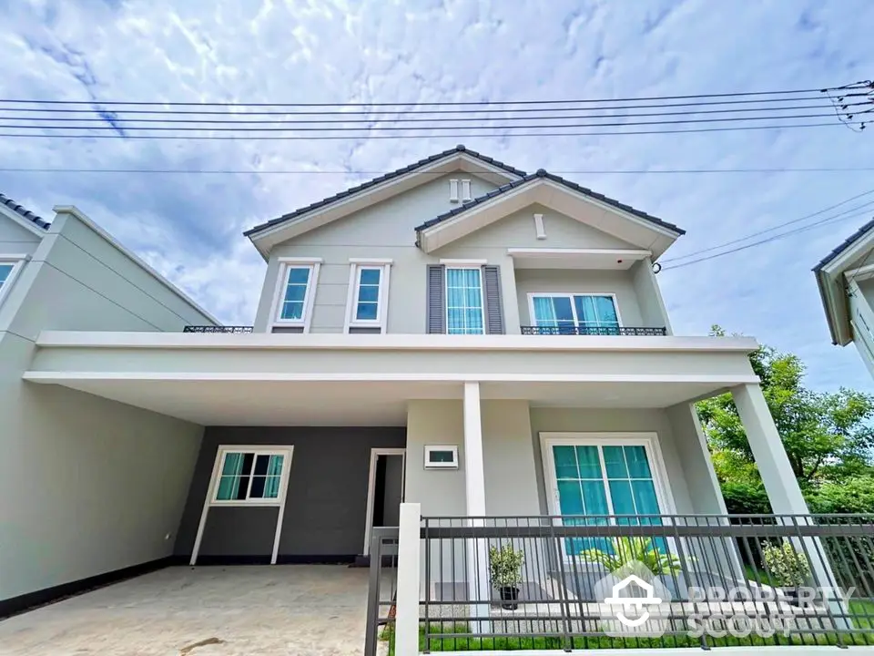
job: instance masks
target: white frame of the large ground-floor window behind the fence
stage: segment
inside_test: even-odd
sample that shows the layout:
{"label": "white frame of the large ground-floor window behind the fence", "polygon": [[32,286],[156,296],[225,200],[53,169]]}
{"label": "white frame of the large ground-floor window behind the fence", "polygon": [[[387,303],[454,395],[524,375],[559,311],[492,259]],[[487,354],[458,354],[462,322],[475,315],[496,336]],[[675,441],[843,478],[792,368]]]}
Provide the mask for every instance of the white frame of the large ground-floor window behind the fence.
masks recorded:
{"label": "white frame of the large ground-floor window behind the fence", "polygon": [[[650,473],[653,475],[653,487],[655,487],[655,498],[658,501],[659,511],[662,515],[676,515],[674,493],[671,491],[667,477],[665,459],[662,457],[662,447],[659,444],[657,433],[540,433],[546,507],[550,515],[560,516],[562,510],[558,500],[558,479],[555,476],[553,446],[643,446],[646,459],[649,462]],[[610,514],[614,515],[604,452],[600,448],[598,449],[598,457],[601,460],[601,476],[604,479],[607,504],[610,507]],[[560,520],[556,519],[556,521]],[[562,552],[564,559],[571,558],[564,552],[564,541],[562,541]]]}

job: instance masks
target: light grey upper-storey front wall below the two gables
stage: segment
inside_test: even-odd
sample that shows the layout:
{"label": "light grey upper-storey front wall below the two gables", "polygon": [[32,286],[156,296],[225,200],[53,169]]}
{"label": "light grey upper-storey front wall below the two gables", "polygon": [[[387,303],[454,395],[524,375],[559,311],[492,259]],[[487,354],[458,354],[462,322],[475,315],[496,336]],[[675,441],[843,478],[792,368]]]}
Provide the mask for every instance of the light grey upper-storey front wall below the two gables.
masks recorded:
{"label": "light grey upper-storey front wall below the two gables", "polygon": [[[462,177],[472,179],[474,196],[494,189],[491,182],[474,176],[448,174],[276,246],[270,253],[255,331],[269,332],[269,323],[274,319],[270,314],[271,311],[275,313],[272,304],[282,269],[279,260],[283,257],[321,258],[310,322],[312,333],[342,333],[349,292],[350,258],[380,258],[393,261],[388,295],[388,333],[425,332],[427,264],[436,264],[441,259],[469,259],[484,260],[501,267],[505,330],[518,334],[520,324],[529,323],[526,302],[519,300],[523,292],[518,288],[524,277],[534,272],[514,272],[508,248],[636,248],[578,220],[533,204],[426,254],[414,244],[414,229],[422,222],[458,207],[457,203],[449,202],[449,180]],[[544,215],[544,240],[537,239],[535,213]],[[645,325],[641,323],[641,302],[638,302],[637,294],[650,294],[652,290],[636,282],[632,272],[565,271],[555,275],[560,277],[562,273],[566,276],[565,282],[582,281],[587,290],[615,291],[622,297],[620,304],[625,306],[625,310],[620,309],[625,323]],[[563,287],[559,291],[574,290]],[[653,314],[652,302],[646,301],[643,305],[648,313]],[[659,319],[653,325],[665,323]]]}

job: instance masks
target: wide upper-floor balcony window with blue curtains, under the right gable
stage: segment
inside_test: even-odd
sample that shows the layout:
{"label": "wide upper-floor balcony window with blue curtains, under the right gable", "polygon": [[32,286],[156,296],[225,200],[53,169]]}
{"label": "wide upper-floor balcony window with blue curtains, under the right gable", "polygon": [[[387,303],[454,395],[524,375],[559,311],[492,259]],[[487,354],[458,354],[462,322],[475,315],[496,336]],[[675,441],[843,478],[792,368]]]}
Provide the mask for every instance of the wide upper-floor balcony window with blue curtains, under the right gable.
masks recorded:
{"label": "wide upper-floor balcony window with blue curtains, under the right gable", "polygon": [[613,294],[531,294],[531,313],[557,333],[614,334],[621,325]]}

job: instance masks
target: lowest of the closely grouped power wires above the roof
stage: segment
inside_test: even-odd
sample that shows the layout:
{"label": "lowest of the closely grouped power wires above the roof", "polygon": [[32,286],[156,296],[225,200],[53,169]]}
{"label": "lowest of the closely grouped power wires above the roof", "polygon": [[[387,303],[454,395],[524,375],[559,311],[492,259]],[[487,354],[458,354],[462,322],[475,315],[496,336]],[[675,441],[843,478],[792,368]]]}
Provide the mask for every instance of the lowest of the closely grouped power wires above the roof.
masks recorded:
{"label": "lowest of the closely grouped power wires above the roof", "polygon": [[[860,121],[853,122],[854,125],[862,125]],[[846,123],[841,122],[828,122],[828,123],[788,123],[786,125],[767,125],[767,126],[737,126],[734,128],[691,128],[691,129],[667,129],[667,130],[606,130],[601,132],[519,132],[513,134],[506,134],[501,132],[474,132],[467,133],[463,135],[448,135],[448,134],[391,134],[391,135],[295,135],[295,136],[252,136],[252,135],[238,135],[238,136],[221,136],[221,135],[167,135],[167,134],[158,134],[158,135],[126,135],[116,132],[116,134],[40,134],[40,133],[15,133],[15,132],[2,132],[0,133],[0,138],[86,138],[86,139],[98,139],[98,138],[120,138],[125,140],[130,139],[171,139],[171,140],[201,140],[201,141],[239,141],[239,140],[248,140],[248,141],[326,141],[326,140],[348,140],[348,139],[360,139],[364,141],[369,141],[373,139],[407,139],[407,138],[416,138],[416,139],[436,139],[436,138],[523,138],[523,137],[613,137],[620,135],[666,135],[666,134],[692,134],[692,133],[706,133],[706,132],[738,132],[738,131],[747,131],[747,130],[764,130],[764,129],[788,129],[788,128],[827,128],[827,127],[843,127],[847,125]],[[555,128],[559,126],[551,126],[551,128]],[[561,126],[564,127],[564,126]],[[408,128],[410,129],[410,128]],[[477,129],[477,128],[463,128],[463,129]]]}

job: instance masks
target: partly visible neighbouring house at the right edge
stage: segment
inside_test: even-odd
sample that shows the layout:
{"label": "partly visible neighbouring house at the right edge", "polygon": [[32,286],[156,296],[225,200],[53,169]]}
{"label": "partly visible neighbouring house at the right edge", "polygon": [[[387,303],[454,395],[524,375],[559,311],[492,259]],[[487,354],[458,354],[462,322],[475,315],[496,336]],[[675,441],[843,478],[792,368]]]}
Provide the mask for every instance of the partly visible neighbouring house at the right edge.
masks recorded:
{"label": "partly visible neighbouring house at the right edge", "polygon": [[828,253],[813,272],[831,343],[855,343],[874,375],[874,219]]}

